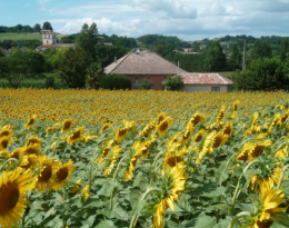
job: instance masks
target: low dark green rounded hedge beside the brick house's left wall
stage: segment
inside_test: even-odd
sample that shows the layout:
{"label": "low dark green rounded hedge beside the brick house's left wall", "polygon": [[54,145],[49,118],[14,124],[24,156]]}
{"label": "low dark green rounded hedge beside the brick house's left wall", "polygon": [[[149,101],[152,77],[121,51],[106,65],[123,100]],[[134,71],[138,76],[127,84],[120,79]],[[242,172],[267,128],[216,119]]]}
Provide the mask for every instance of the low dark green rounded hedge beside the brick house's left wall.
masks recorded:
{"label": "low dark green rounded hedge beside the brick house's left wall", "polygon": [[101,76],[99,86],[102,89],[131,89],[129,77],[123,75],[104,75]]}

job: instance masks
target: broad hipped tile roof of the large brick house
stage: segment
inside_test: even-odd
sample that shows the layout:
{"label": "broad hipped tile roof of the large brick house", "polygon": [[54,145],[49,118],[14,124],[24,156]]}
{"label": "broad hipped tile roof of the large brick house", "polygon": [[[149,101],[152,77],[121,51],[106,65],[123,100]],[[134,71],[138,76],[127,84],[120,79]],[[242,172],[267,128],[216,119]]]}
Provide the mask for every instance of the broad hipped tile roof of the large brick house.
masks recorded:
{"label": "broad hipped tile roof of the large brick house", "polygon": [[104,72],[121,75],[176,75],[186,73],[186,70],[161,58],[157,53],[140,51],[139,53],[128,53],[117,62],[112,62],[104,68]]}

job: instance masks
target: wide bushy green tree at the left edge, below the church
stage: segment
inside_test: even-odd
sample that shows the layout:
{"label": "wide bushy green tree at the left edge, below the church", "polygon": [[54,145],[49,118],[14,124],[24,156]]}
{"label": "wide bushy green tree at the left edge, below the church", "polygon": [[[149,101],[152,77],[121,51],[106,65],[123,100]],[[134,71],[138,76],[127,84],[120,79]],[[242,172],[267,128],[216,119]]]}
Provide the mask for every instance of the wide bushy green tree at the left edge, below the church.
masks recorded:
{"label": "wide bushy green tree at the left edge, below the church", "polygon": [[0,76],[6,78],[11,87],[18,88],[24,78],[41,75],[43,66],[41,53],[16,50],[10,52],[9,57],[0,58]]}

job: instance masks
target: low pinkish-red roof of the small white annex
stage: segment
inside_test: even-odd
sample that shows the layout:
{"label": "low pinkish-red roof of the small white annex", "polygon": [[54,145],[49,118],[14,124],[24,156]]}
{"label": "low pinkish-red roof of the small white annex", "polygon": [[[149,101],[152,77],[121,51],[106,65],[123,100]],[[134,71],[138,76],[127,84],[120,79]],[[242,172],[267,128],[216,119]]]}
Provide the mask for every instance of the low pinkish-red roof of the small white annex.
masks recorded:
{"label": "low pinkish-red roof of the small white annex", "polygon": [[180,73],[185,85],[232,85],[228,78],[219,73]]}

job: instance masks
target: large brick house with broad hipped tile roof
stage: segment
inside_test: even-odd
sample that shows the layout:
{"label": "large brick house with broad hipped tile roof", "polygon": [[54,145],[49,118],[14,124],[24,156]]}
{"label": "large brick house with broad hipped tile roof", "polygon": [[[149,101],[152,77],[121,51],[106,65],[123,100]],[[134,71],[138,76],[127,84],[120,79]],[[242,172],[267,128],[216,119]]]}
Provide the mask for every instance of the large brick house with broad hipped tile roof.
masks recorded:
{"label": "large brick house with broad hipped tile roof", "polygon": [[167,76],[188,73],[178,66],[148,51],[130,52],[119,60],[114,60],[104,68],[104,73],[121,73],[128,76],[132,85],[140,85],[144,79],[153,83],[153,90],[162,90],[162,81]]}

